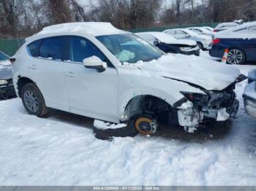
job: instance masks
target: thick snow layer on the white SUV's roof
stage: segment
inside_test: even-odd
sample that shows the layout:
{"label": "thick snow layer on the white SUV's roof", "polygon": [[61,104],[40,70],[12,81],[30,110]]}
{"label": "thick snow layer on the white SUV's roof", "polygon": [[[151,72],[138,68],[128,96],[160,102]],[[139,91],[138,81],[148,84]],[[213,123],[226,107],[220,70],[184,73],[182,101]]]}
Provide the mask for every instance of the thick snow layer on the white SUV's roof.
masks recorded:
{"label": "thick snow layer on the white SUV's roof", "polygon": [[45,35],[45,34],[90,34],[92,36],[102,36],[110,34],[124,34],[127,31],[121,31],[114,27],[111,23],[103,22],[78,22],[78,23],[63,23],[53,26],[47,26],[42,28],[42,31],[35,34],[35,36]]}

